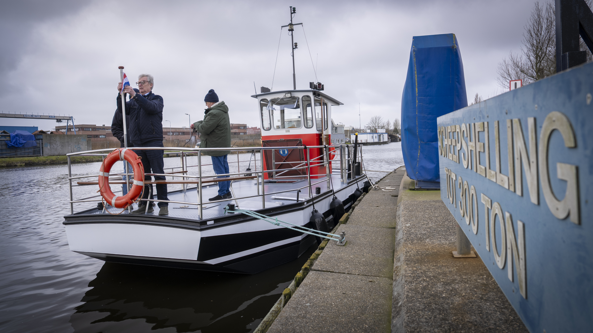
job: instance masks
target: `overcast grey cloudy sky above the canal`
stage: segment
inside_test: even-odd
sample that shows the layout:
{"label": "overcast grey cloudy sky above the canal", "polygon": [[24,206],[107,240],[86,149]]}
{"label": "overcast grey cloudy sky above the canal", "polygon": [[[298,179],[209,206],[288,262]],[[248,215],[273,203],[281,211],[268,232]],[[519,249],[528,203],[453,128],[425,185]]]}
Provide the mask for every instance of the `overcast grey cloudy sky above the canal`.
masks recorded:
{"label": "overcast grey cloudy sky above the canal", "polygon": [[[333,108],[334,121],[358,126],[360,103],[364,126],[375,115],[400,118],[413,36],[454,33],[468,100],[476,92],[500,94],[496,65],[519,51],[534,1],[5,1],[0,111],[68,114],[77,124],[109,126],[117,66],[125,66],[130,82],[154,75],[165,127],[167,120],[188,126],[186,113],[202,119],[208,89],[228,104],[232,123],[260,126],[254,82],[257,91],[272,88],[274,77],[274,90],[292,89],[290,36],[286,28],[280,34],[291,5],[294,23],[304,24],[294,31],[297,89],[322,82],[344,103]],[[56,126],[7,118],[0,124]]]}

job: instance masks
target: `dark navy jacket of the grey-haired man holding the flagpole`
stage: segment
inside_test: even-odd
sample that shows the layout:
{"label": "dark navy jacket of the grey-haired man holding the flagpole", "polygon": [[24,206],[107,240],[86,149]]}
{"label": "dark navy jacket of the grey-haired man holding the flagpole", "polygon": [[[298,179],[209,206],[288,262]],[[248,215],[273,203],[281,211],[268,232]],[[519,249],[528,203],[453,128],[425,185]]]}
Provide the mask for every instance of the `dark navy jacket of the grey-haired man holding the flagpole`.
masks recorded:
{"label": "dark navy jacket of the grey-haired man holding the flagpole", "polygon": [[[126,116],[130,116],[127,129],[131,143],[140,145],[152,140],[162,140],[162,106],[162,97],[152,92],[146,97],[136,94],[126,102]],[[120,94],[117,94],[117,112],[122,112]]]}

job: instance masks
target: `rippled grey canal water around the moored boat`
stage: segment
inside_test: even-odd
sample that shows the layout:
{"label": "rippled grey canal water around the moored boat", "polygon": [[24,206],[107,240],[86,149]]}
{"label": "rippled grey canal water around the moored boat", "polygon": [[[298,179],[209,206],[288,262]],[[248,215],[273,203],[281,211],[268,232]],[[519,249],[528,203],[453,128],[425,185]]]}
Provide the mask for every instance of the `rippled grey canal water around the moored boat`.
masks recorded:
{"label": "rippled grey canal water around the moored boat", "polygon": [[[399,142],[364,146],[363,156],[369,170],[403,165]],[[249,158],[239,156],[241,172]],[[188,162],[197,164],[197,156]],[[179,163],[165,158],[165,168]],[[234,172],[236,155],[229,164]],[[75,164],[72,172],[94,174],[99,167]],[[373,181],[382,175],[369,172]],[[66,165],[0,169],[0,332],[251,332],[315,250],[253,275],[89,258],[68,249],[67,177]],[[76,188],[75,197],[95,190]]]}

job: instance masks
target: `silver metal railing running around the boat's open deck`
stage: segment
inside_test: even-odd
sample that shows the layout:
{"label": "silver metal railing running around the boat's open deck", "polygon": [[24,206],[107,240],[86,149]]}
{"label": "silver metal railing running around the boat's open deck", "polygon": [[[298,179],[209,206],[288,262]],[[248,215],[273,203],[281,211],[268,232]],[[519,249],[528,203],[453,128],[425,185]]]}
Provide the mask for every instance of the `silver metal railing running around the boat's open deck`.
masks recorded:
{"label": "silver metal railing running around the boat's open deck", "polygon": [[[203,184],[203,181],[205,181],[205,180],[213,180],[213,178],[241,176],[242,174],[251,174],[251,175],[253,175],[253,178],[257,178],[257,194],[254,194],[251,196],[235,197],[234,193],[232,193],[233,200],[235,200],[235,203],[237,203],[237,200],[240,200],[240,199],[261,197],[262,198],[262,208],[265,208],[266,207],[266,200],[265,200],[266,195],[271,196],[273,194],[299,191],[304,188],[308,188],[309,189],[308,197],[311,198],[311,197],[313,197],[313,190],[312,190],[313,185],[319,184],[324,181],[327,182],[327,188],[330,189],[331,188],[330,177],[331,177],[331,174],[333,174],[333,172],[331,171],[330,163],[337,161],[337,159],[339,159],[339,162],[340,162],[340,182],[349,183],[349,182],[354,181],[356,179],[356,175],[355,175],[355,165],[353,163],[353,158],[352,158],[353,148],[354,148],[353,145],[340,144],[340,145],[331,145],[331,146],[307,146],[306,148],[304,146],[294,146],[294,147],[282,147],[282,148],[279,148],[279,147],[253,148],[252,147],[250,149],[245,149],[245,148],[222,148],[222,149],[221,148],[177,148],[177,147],[171,147],[171,148],[168,148],[168,147],[138,147],[138,148],[132,147],[129,149],[130,150],[162,150],[162,151],[168,151],[168,153],[180,153],[181,154],[180,167],[167,168],[165,170],[171,170],[171,172],[165,172],[164,174],[148,174],[147,173],[145,175],[151,175],[151,176],[160,175],[160,176],[165,176],[165,177],[173,177],[173,179],[174,179],[174,177],[180,177],[184,181],[191,180],[192,182],[187,182],[187,183],[182,184],[183,188],[181,191],[183,191],[183,193],[186,193],[188,184],[196,184],[197,185],[197,187],[196,187],[197,202],[152,199],[152,191],[149,191],[148,198],[142,198],[142,201],[180,203],[180,204],[188,204],[188,205],[191,204],[191,205],[197,206],[198,217],[201,220],[201,219],[203,219],[203,209],[204,209],[203,206],[205,204],[205,202],[203,201],[203,197],[202,197],[202,194],[203,194],[202,184]],[[359,146],[359,148],[361,148],[361,146]],[[306,161],[288,162],[288,163],[292,163],[292,164],[298,163],[298,165],[296,167],[286,168],[286,169],[276,169],[276,165],[282,165],[283,163],[285,163],[285,162],[276,162],[274,164],[275,165],[274,170],[264,170],[262,168],[262,166],[264,165],[264,151],[271,150],[272,156],[273,156],[273,155],[275,155],[274,151],[278,150],[278,149],[305,149],[306,154],[304,154],[304,155],[306,156]],[[310,156],[311,149],[323,149],[323,151],[322,151],[323,154],[320,154],[320,156],[317,156],[317,157],[311,159],[311,156]],[[202,153],[209,152],[209,151],[222,151],[222,150],[232,151],[232,152],[237,153],[237,172],[229,172],[228,174],[203,175],[202,168],[207,165],[212,165],[212,164],[202,164]],[[80,176],[72,177],[71,157],[72,156],[103,156],[103,158],[104,158],[105,156],[109,155],[109,153],[111,153],[112,151],[113,151],[113,149],[97,149],[94,151],[76,152],[76,153],[69,153],[66,155],[68,158],[68,182],[69,182],[69,198],[70,198],[69,204],[70,204],[71,214],[74,214],[74,204],[75,203],[101,202],[102,201],[100,198],[98,198],[98,197],[100,197],[100,195],[74,200],[74,194],[73,194],[72,188],[78,187],[78,186],[87,186],[87,185],[73,185],[72,181],[73,180],[81,180],[84,178],[98,177],[98,172],[97,172],[97,174],[93,174],[93,175],[80,175]],[[255,155],[254,152],[259,152],[260,169],[257,170],[257,163],[254,163],[254,170],[241,171],[240,162],[248,162],[248,161],[240,161],[239,152],[241,152],[241,151],[253,152],[253,155],[250,155],[250,159],[251,159],[251,156]],[[336,153],[337,151],[339,151],[339,153]],[[197,165],[188,165],[187,156],[190,153],[197,153]],[[334,155],[333,158],[330,159],[330,155]],[[362,149],[361,149],[361,154],[359,155],[359,157],[362,159]],[[255,156],[254,160],[257,161],[257,156]],[[235,162],[229,162],[229,164],[232,164],[232,163],[235,163]],[[188,168],[194,168],[194,167],[197,168],[197,176],[188,174]],[[229,167],[230,167],[230,165],[229,165]],[[314,167],[326,167],[325,168],[326,172],[324,174],[311,174],[311,168],[314,168]],[[180,170],[175,171],[176,169],[180,169]],[[301,170],[301,169],[305,169],[305,171],[306,171],[307,185],[304,185],[299,188],[291,188],[289,190],[275,191],[272,193],[265,192],[264,184],[266,183],[266,181],[264,180],[264,174],[266,174],[266,173],[271,174],[272,172],[278,172],[278,174],[275,175],[275,178],[290,179],[290,178],[294,178],[294,177],[293,176],[282,176],[282,174],[285,172],[288,172],[288,171]],[[119,173],[119,174],[115,174],[115,173],[110,174],[110,176],[123,176],[123,175],[127,176],[126,177],[127,182],[129,183],[130,176],[133,174],[131,174],[129,171],[127,171],[125,173]],[[312,177],[322,177],[322,176],[325,179],[311,183]],[[297,176],[297,177],[301,177],[301,176]],[[304,177],[301,177],[301,178],[304,178]],[[221,179],[220,181],[225,181],[225,180]],[[229,181],[231,181],[230,189],[232,191],[232,182],[235,180],[229,180]],[[206,201],[206,203],[212,204],[212,203],[218,203],[221,201],[228,201],[228,199],[224,198],[222,200]],[[106,207],[104,207],[104,209],[106,209]],[[129,210],[131,210],[131,207],[129,207]]]}

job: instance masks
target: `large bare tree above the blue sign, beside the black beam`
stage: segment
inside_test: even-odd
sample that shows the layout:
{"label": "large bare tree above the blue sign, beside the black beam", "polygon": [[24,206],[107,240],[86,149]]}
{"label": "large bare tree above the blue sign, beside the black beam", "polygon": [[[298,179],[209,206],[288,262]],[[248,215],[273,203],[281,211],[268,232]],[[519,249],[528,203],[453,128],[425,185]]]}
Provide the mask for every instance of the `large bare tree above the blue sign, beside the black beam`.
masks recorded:
{"label": "large bare tree above the blue sign, beside the black beam", "polygon": [[[589,8],[593,0],[585,0]],[[509,81],[522,80],[530,84],[556,73],[556,8],[553,2],[540,5],[536,1],[525,25],[521,54],[509,53],[498,63],[496,72],[499,87],[509,88]],[[587,62],[593,60],[591,52],[581,39],[581,50],[587,52]]]}

